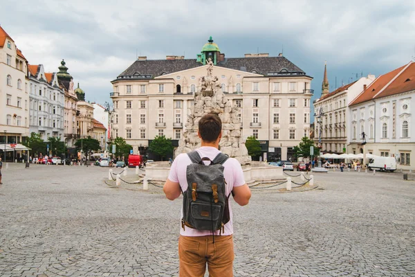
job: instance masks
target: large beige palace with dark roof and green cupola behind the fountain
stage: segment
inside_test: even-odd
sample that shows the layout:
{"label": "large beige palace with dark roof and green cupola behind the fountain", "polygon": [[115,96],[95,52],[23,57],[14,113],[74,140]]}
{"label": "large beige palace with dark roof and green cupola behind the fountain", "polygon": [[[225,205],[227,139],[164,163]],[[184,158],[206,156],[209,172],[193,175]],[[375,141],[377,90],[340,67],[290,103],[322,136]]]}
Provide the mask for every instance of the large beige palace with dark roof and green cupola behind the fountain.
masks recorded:
{"label": "large beige palace with dark roof and green cupola behind the fountain", "polygon": [[310,134],[313,78],[282,54],[227,58],[212,37],[196,59],[138,57],[118,75],[111,82],[111,138],[126,139],[133,152],[141,154],[155,136],[169,137],[177,146],[209,57],[223,93],[240,108],[243,136],[260,141],[262,159],[294,160],[293,147]]}

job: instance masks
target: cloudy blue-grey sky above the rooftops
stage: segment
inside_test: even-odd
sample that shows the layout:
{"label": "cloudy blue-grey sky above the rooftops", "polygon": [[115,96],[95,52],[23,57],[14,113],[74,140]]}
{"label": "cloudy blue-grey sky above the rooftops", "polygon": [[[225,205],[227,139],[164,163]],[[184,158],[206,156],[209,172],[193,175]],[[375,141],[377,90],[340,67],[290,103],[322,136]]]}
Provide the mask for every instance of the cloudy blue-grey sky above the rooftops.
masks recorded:
{"label": "cloudy blue-grey sky above the rooftops", "polygon": [[[1,0],[0,24],[30,64],[57,71],[64,59],[86,100],[104,103],[110,81],[134,62],[196,58],[212,35],[226,57],[284,56],[321,92],[356,74],[386,73],[415,55],[415,1]],[[18,3],[18,4],[17,4]]]}

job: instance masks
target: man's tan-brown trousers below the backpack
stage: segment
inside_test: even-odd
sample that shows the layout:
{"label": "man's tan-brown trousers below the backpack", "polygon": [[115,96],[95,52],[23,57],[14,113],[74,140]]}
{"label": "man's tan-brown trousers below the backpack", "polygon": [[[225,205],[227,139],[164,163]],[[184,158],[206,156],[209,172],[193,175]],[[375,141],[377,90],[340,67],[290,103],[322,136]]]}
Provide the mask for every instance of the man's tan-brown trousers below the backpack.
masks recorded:
{"label": "man's tan-brown trousers below the backpack", "polygon": [[232,235],[212,235],[185,237],[178,239],[181,277],[203,277],[208,262],[209,276],[233,276],[233,238]]}

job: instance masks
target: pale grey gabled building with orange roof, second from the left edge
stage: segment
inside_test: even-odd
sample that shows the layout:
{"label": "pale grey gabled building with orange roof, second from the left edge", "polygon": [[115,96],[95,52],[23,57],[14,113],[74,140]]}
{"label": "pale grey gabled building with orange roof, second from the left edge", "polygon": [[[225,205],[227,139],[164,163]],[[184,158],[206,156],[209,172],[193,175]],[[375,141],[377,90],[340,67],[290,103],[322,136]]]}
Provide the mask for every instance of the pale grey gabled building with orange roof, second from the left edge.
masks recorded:
{"label": "pale grey gabled building with orange roof, second from the left edge", "polygon": [[45,73],[44,66],[28,65],[29,130],[44,141],[50,136],[64,140],[64,90],[56,73]]}

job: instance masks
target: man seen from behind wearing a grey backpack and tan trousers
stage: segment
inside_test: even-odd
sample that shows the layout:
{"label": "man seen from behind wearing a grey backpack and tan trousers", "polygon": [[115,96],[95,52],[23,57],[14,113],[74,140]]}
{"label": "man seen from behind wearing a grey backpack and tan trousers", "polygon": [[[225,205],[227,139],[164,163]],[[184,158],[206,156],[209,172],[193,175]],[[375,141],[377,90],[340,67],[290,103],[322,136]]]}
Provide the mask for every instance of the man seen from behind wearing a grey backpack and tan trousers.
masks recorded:
{"label": "man seen from behind wearing a grey backpack and tan trousers", "polygon": [[233,276],[233,226],[230,195],[248,204],[251,193],[241,165],[219,151],[222,123],[216,114],[199,120],[201,148],[180,154],[163,191],[174,200],[183,193],[178,256],[180,276]]}

